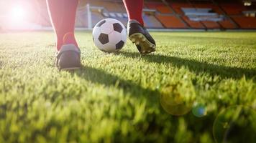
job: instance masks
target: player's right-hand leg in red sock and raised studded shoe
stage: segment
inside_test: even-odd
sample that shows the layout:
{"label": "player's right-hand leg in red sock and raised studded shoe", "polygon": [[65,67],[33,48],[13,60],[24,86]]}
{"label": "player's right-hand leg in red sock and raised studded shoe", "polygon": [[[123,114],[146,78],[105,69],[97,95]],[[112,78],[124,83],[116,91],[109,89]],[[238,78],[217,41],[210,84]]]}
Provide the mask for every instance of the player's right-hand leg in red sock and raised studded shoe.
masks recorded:
{"label": "player's right-hand leg in red sock and raised studded shoe", "polygon": [[136,44],[141,54],[155,51],[155,40],[144,27],[142,9],[144,0],[123,0],[129,17],[127,29],[129,39]]}

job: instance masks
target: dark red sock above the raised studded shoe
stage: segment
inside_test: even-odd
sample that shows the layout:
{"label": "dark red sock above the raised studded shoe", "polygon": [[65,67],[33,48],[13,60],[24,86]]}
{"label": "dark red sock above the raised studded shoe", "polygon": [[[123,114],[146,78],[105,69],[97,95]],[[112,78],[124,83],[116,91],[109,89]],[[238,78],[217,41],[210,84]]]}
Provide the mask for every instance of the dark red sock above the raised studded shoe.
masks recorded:
{"label": "dark red sock above the raised studded shoe", "polygon": [[127,9],[129,20],[137,20],[143,25],[142,9],[144,0],[123,0],[123,2],[125,9]]}

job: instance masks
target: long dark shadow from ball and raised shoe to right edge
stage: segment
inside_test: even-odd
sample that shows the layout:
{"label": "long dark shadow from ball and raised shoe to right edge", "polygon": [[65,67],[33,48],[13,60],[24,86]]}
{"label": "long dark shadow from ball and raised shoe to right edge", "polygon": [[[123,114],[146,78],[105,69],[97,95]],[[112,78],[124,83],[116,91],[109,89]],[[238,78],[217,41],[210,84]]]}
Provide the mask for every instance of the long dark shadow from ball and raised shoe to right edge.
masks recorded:
{"label": "long dark shadow from ball and raised shoe to right edge", "polygon": [[178,68],[185,66],[190,71],[193,71],[196,74],[204,74],[204,72],[206,72],[211,76],[219,76],[221,78],[241,79],[244,76],[247,79],[256,80],[256,69],[244,69],[238,67],[221,66],[216,64],[208,64],[206,62],[194,61],[191,59],[182,59],[175,56],[164,56],[157,54],[149,54],[142,56],[139,53],[131,53],[127,51],[120,51],[116,54],[132,58],[141,58],[145,59],[146,61],[158,64],[173,64]]}

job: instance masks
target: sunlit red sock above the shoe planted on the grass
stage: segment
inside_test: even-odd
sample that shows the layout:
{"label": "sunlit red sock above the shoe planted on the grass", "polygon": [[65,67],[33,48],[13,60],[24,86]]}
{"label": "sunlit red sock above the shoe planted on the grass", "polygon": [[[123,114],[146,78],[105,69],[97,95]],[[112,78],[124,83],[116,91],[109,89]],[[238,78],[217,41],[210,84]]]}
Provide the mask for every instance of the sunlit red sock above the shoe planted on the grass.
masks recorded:
{"label": "sunlit red sock above the shoe planted on the grass", "polygon": [[47,6],[57,36],[58,51],[63,44],[78,46],[74,34],[78,0],[47,0]]}

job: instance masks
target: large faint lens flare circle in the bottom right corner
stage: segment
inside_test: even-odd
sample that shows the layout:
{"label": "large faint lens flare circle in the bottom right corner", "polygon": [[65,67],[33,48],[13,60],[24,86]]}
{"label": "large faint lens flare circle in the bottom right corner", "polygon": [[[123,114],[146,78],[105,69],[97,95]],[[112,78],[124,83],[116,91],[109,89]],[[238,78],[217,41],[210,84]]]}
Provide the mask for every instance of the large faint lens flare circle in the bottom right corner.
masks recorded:
{"label": "large faint lens flare circle in the bottom right corner", "polygon": [[238,105],[223,109],[214,121],[213,135],[216,142],[255,142],[256,112]]}

